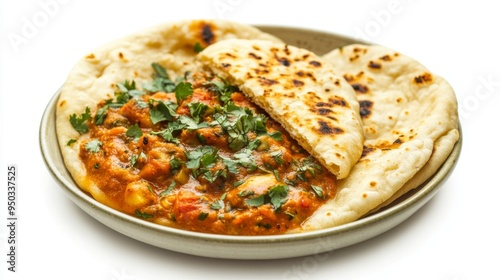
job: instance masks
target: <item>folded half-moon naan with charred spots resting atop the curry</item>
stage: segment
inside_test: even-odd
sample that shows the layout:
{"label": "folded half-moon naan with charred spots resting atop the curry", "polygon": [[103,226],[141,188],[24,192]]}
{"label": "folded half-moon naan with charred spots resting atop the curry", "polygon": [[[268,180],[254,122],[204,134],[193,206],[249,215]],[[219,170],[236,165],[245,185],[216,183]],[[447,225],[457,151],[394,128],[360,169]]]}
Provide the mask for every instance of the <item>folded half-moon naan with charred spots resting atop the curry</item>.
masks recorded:
{"label": "folded half-moon naan with charred spots resting atop the curry", "polygon": [[237,85],[338,179],[363,149],[359,104],[352,87],[314,53],[282,43],[232,39],[198,55]]}

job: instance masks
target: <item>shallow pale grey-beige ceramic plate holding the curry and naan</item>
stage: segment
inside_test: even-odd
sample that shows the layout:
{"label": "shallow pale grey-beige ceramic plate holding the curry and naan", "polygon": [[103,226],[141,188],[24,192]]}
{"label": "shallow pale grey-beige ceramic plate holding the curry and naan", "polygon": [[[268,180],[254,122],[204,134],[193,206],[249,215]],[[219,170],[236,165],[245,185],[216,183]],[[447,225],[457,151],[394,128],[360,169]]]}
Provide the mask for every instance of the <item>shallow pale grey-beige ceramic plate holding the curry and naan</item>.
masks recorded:
{"label": "shallow pale grey-beige ceramic plate holding the curry and naan", "polygon": [[[258,26],[285,42],[322,55],[358,40],[299,28]],[[171,251],[225,259],[280,259],[321,254],[382,234],[408,219],[425,205],[451,175],[460,155],[462,138],[440,169],[417,189],[381,211],[342,226],[299,234],[275,236],[226,236],[190,232],[154,224],[126,215],[95,201],[73,181],[64,165],[56,134],[56,104],[50,100],[40,124],[40,149],[51,175],[68,197],[90,216],[144,243]]]}

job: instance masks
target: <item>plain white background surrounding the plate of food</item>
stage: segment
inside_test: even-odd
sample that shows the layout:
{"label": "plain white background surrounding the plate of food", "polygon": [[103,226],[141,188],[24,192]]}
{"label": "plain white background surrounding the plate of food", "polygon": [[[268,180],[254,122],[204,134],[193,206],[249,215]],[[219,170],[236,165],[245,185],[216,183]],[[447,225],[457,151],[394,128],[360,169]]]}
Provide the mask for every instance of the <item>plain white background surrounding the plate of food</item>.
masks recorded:
{"label": "plain white background surrounding the plate of food", "polygon": [[[500,279],[499,1],[54,1],[0,1],[1,279]],[[49,2],[57,5],[46,10]],[[464,142],[453,176],[400,226],[321,261],[194,257],[100,224],[45,168],[38,145],[43,110],[89,50],[185,18],[313,28],[418,59],[452,84],[461,106]],[[33,23],[36,29],[23,35]],[[16,273],[7,271],[8,164],[19,170]]]}

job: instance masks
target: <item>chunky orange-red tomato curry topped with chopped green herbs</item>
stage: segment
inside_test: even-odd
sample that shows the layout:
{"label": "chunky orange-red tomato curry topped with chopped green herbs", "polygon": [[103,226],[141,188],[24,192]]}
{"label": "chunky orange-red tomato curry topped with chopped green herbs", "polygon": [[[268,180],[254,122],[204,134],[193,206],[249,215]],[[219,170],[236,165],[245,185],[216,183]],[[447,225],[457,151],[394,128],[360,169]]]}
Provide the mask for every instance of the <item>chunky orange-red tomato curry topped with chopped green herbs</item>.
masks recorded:
{"label": "chunky orange-red tomato curry topped with chopped green herbs", "polygon": [[236,87],[153,69],[142,90],[125,81],[92,118],[71,116],[88,126],[80,158],[109,205],[191,231],[264,235],[335,195],[335,177]]}

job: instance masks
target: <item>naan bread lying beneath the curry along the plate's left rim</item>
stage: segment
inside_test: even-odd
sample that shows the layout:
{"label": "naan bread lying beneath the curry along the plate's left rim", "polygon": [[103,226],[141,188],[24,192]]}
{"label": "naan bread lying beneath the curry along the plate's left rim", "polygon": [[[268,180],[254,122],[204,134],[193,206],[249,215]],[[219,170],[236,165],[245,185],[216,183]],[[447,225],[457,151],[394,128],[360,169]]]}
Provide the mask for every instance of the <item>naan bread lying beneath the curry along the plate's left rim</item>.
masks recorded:
{"label": "naan bread lying beneath the curry along the plate's left rim", "polygon": [[[222,20],[186,20],[158,25],[142,32],[104,45],[83,57],[70,72],[61,88],[56,112],[56,128],[61,152],[75,182],[96,200],[109,204],[106,195],[86,180],[86,171],[79,159],[79,135],[71,126],[69,116],[85,112],[92,115],[97,104],[114,97],[116,84],[134,79],[140,87],[151,79],[151,63],[165,67],[175,79],[186,71],[197,69],[194,46],[206,47],[231,38],[261,39],[280,42],[280,39],[254,27]],[[67,145],[71,139],[78,140]]]}

